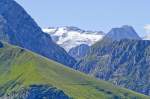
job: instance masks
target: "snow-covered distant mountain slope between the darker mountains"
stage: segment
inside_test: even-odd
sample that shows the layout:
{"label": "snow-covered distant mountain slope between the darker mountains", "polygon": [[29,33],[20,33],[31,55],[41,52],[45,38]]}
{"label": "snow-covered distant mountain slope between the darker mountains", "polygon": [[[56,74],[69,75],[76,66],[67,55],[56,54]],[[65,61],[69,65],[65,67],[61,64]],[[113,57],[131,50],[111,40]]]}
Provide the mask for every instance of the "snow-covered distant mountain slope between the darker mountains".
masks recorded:
{"label": "snow-covered distant mountain slope between the darker mountains", "polygon": [[105,35],[102,31],[85,31],[72,26],[46,28],[43,31],[50,34],[53,41],[63,47],[67,52],[81,44],[91,46],[101,40]]}

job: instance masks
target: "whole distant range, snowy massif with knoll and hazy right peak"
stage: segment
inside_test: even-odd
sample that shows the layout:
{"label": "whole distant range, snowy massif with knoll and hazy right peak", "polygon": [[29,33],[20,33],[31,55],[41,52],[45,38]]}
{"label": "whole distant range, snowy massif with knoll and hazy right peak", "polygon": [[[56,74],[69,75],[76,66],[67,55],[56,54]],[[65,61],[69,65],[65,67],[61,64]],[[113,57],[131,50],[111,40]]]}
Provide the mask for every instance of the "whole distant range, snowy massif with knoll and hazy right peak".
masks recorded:
{"label": "whole distant range, snowy massif with knoll and hazy right peak", "polygon": [[[103,37],[110,37],[112,40],[141,40],[135,30],[128,25],[124,25],[120,28],[113,28],[107,34],[102,31],[85,31],[77,27],[50,27],[43,29],[43,31],[50,34],[53,41],[63,47],[76,60],[79,60],[86,55],[89,50],[87,46],[90,47],[102,40]],[[85,47],[87,49],[85,49]]]}

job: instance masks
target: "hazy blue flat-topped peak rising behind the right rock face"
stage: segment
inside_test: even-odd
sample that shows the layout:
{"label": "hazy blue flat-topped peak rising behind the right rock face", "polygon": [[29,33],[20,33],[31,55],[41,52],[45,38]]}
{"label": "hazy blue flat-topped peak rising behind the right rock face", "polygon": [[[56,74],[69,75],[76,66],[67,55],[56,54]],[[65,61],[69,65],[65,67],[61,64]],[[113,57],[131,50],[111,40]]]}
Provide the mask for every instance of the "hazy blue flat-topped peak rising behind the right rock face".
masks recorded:
{"label": "hazy blue flat-topped peak rising behind the right rock face", "polygon": [[124,25],[120,28],[113,28],[111,31],[105,36],[109,37],[112,40],[122,40],[122,39],[132,39],[132,40],[140,40],[141,38],[138,36],[133,27]]}

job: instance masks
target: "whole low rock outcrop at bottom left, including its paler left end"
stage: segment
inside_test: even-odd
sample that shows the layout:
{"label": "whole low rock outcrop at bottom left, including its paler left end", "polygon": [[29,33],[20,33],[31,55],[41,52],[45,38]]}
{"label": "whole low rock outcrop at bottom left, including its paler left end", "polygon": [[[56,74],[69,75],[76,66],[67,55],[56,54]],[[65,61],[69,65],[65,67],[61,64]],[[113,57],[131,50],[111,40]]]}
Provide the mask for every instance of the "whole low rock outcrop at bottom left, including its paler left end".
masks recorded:
{"label": "whole low rock outcrop at bottom left, including its paler left end", "polygon": [[71,99],[63,91],[48,85],[31,85],[18,92],[0,97],[2,99]]}

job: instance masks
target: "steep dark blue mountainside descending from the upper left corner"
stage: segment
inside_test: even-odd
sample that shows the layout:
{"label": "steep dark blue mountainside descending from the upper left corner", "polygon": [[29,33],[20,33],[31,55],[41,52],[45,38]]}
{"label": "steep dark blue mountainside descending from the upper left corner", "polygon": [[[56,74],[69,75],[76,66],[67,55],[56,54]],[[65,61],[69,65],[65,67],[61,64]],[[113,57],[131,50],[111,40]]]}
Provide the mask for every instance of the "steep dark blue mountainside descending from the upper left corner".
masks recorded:
{"label": "steep dark blue mountainside descending from the upper left corner", "polygon": [[29,49],[67,66],[76,61],[42,32],[14,0],[0,0],[0,40]]}

